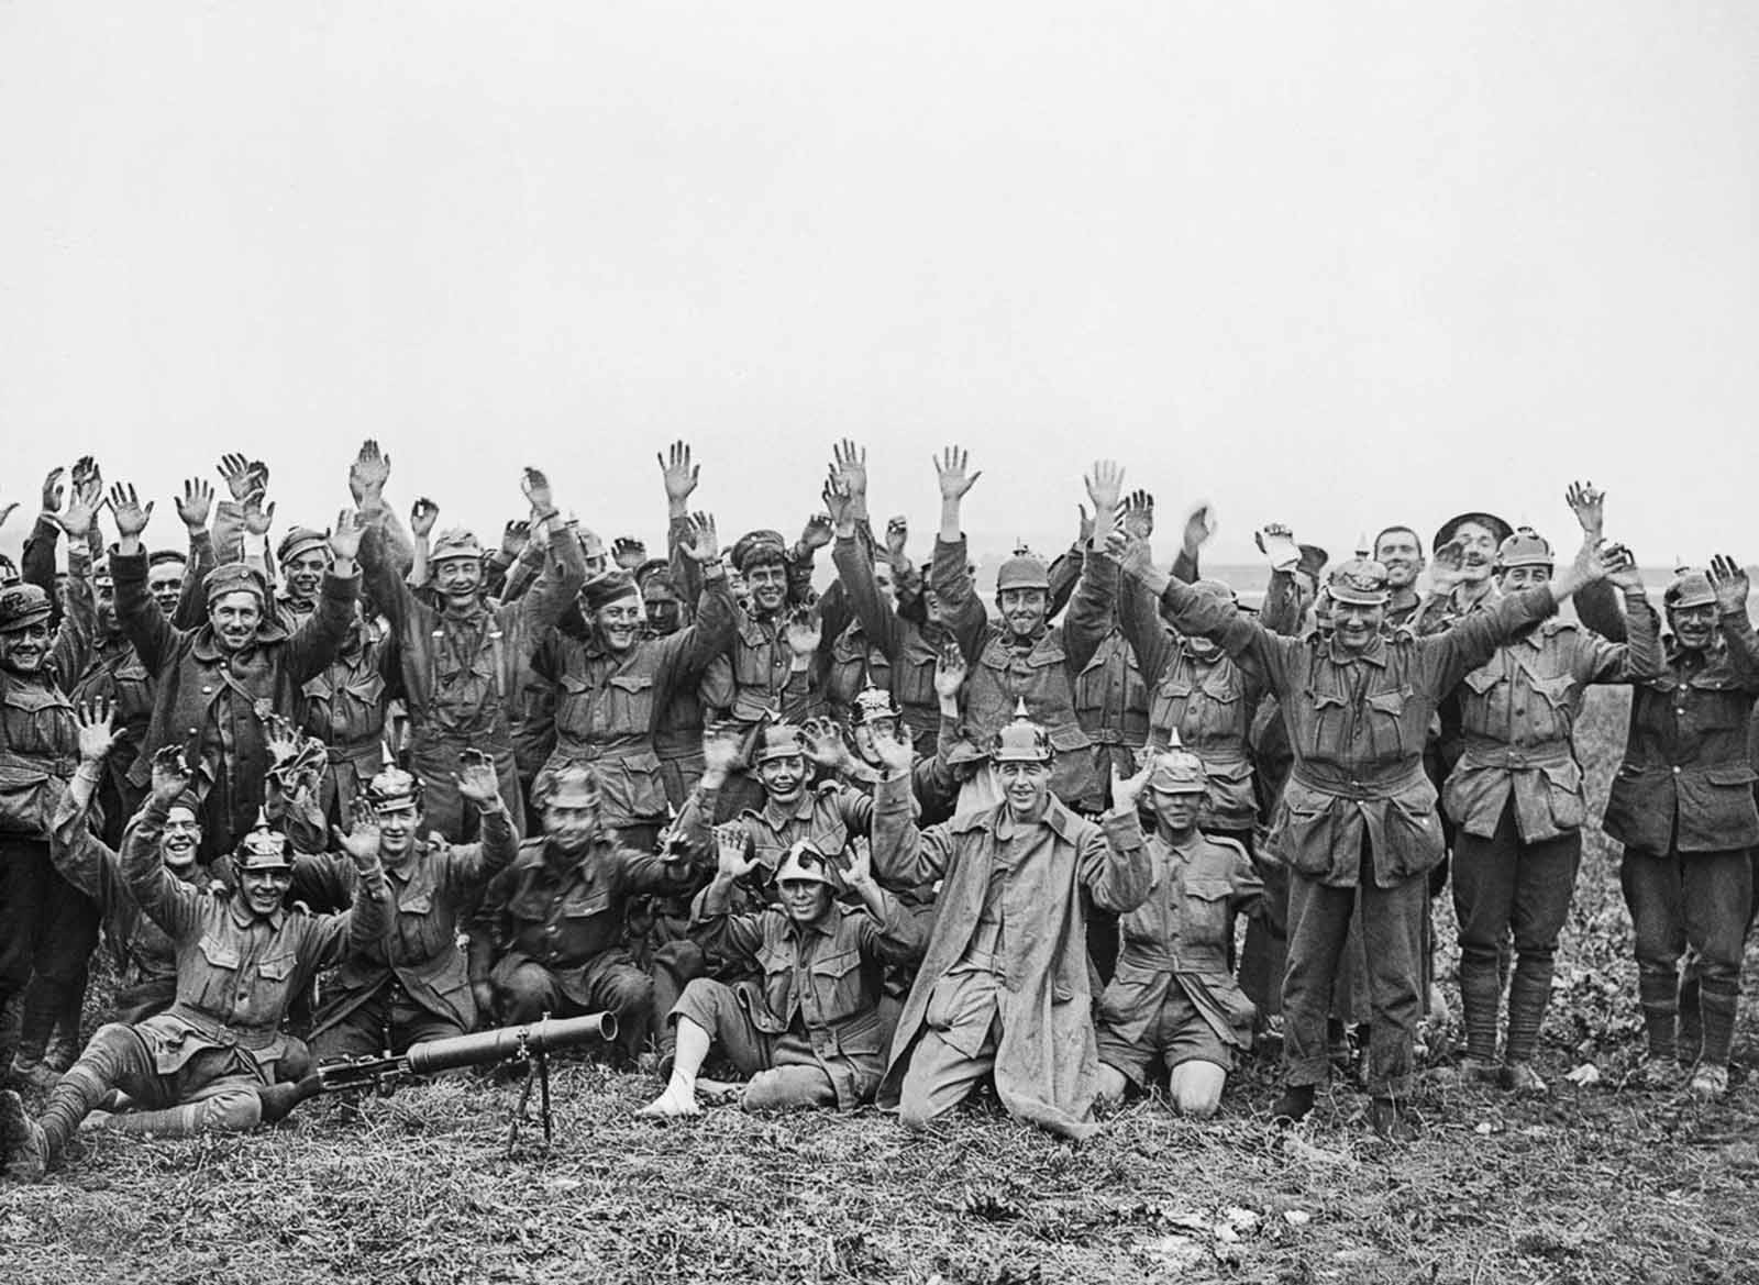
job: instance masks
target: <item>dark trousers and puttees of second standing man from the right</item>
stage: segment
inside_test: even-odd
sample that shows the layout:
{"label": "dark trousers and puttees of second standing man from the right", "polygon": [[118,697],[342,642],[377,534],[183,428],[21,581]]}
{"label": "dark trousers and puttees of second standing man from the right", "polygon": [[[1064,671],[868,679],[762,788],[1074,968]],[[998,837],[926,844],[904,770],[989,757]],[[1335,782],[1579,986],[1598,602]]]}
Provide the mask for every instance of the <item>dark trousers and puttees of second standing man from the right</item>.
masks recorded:
{"label": "dark trousers and puttees of second standing man from the right", "polygon": [[1467,1056],[1497,1055],[1502,946],[1514,935],[1507,1062],[1529,1062],[1551,998],[1557,939],[1581,867],[1581,833],[1523,842],[1514,800],[1490,839],[1462,830],[1453,849],[1453,909],[1460,921],[1460,1007]]}

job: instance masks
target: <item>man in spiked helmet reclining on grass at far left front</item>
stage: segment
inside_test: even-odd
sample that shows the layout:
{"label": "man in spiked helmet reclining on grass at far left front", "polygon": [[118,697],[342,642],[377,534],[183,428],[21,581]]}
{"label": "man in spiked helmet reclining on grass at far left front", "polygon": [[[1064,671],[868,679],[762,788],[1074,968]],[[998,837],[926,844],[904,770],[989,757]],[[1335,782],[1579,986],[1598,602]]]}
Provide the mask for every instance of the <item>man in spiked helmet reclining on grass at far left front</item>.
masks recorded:
{"label": "man in spiked helmet reclining on grass at far left front", "polygon": [[190,784],[178,747],[160,749],[151,795],[121,853],[123,881],[141,911],[176,942],[176,1004],[132,1027],[100,1027],[39,1118],[25,1114],[18,1093],[0,1093],[9,1178],[39,1181],[113,1090],[132,1104],[104,1120],[118,1130],[186,1137],[253,1129],[278,1069],[299,1053],[297,1041],[280,1030],[288,1000],[318,969],[339,963],[348,949],[366,949],[385,928],[385,877],[375,856],[361,861],[350,911],[311,916],[285,905],[287,840],[266,824],[239,844],[236,895],[197,889],[174,875],[160,856],[160,835]]}

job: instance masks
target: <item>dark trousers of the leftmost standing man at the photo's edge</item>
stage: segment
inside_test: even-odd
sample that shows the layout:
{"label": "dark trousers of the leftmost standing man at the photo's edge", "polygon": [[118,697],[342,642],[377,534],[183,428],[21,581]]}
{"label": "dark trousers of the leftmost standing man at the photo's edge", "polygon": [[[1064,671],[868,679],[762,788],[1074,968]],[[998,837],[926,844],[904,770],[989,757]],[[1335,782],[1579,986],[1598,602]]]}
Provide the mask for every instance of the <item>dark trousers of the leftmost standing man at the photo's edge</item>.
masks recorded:
{"label": "dark trousers of the leftmost standing man at the photo's edge", "polygon": [[99,909],[56,874],[49,846],[0,840],[0,1076],[14,1056],[40,1062],[56,1021],[79,1034]]}

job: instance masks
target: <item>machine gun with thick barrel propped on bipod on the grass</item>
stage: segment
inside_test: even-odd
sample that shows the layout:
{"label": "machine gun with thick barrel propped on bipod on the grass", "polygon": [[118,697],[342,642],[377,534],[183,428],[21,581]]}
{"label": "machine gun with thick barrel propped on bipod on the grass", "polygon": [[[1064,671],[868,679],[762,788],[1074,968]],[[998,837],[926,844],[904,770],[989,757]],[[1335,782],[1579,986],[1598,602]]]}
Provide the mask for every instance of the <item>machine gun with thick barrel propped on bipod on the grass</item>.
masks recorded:
{"label": "machine gun with thick barrel propped on bipod on the grass", "polygon": [[526,1086],[519,1095],[519,1109],[508,1130],[508,1146],[519,1137],[519,1122],[526,1118],[531,1085],[538,1085],[538,1113],[544,1120],[544,1143],[554,1137],[549,1099],[549,1055],[617,1037],[617,1014],[589,1013],[584,1018],[544,1018],[524,1027],[498,1027],[471,1035],[427,1039],[410,1044],[403,1053],[361,1056],[327,1062],[296,1085],[273,1085],[264,1090],[264,1118],[280,1120],[294,1106],[318,1093],[345,1093],[373,1088],[389,1092],[399,1079],[410,1076],[436,1076],[459,1067],[524,1067]]}

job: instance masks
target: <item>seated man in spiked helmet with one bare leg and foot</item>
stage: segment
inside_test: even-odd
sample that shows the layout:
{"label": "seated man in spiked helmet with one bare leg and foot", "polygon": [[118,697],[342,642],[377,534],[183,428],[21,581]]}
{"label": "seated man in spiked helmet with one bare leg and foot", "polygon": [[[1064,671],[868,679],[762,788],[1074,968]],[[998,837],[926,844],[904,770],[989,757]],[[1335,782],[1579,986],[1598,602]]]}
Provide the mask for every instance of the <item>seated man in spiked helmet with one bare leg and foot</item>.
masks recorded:
{"label": "seated man in spiked helmet with one bare leg and foot", "polygon": [[[867,1102],[885,1071],[881,972],[922,953],[916,919],[872,881],[857,849],[837,863],[809,840],[793,844],[776,870],[779,904],[734,914],[734,881],[756,858],[737,824],[721,826],[714,882],[702,895],[693,932],[705,949],[742,960],[762,981],[732,986],[698,977],[670,1013],[677,1055],[665,1093],[640,1114],[697,1114],[697,1072],[719,1044],[749,1085],[746,1111]],[[862,907],[841,905],[848,888]]]}

